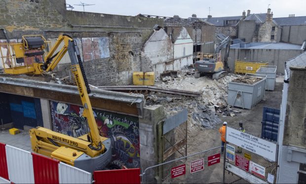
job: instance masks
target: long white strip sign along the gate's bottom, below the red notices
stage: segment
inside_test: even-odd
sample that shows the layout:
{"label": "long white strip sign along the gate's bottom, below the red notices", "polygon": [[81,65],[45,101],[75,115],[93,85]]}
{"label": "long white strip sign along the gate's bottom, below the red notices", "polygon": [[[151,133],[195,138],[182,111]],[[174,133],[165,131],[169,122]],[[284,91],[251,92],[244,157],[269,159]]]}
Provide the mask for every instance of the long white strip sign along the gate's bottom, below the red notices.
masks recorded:
{"label": "long white strip sign along the gate's bottom, below the red notices", "polygon": [[229,172],[243,178],[244,180],[250,182],[251,184],[268,184],[267,182],[257,178],[256,176],[253,176],[252,174],[245,172],[241,169],[239,169],[238,167],[229,164],[228,162],[226,163],[226,170],[228,170]]}

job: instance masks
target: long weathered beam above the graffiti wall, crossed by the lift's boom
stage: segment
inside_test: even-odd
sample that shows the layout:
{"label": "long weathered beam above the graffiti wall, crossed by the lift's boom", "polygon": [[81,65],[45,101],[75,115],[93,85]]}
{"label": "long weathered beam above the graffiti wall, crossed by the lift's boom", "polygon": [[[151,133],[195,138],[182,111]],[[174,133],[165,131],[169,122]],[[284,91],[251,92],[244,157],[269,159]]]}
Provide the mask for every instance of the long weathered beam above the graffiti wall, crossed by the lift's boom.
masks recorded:
{"label": "long weathered beam above the graffiti wall, crossed by the lift's boom", "polygon": [[[82,105],[76,86],[0,77],[0,92]],[[142,117],[144,95],[92,89],[93,108]]]}

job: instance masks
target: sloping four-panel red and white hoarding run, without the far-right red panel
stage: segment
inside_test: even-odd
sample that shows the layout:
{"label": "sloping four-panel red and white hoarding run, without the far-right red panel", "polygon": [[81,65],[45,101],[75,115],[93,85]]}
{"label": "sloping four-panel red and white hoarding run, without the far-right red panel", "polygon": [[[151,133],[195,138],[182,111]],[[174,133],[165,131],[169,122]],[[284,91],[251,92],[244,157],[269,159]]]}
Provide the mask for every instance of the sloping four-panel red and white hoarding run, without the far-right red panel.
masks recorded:
{"label": "sloping four-panel red and white hoarding run, without the far-right red panel", "polygon": [[0,143],[0,184],[91,184],[91,173]]}

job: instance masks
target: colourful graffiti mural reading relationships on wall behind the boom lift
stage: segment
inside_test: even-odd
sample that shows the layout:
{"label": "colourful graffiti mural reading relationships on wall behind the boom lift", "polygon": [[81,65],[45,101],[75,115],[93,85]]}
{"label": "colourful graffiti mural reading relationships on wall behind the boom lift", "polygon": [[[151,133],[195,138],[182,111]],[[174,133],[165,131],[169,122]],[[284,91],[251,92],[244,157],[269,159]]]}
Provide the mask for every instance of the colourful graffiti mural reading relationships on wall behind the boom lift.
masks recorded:
{"label": "colourful graffiti mural reading relationships on wall behind the boom lift", "polygon": [[[51,101],[53,131],[72,137],[87,134],[89,127],[82,116],[83,107]],[[121,160],[128,168],[140,167],[139,122],[137,117],[94,109],[103,137],[110,138],[113,160]]]}

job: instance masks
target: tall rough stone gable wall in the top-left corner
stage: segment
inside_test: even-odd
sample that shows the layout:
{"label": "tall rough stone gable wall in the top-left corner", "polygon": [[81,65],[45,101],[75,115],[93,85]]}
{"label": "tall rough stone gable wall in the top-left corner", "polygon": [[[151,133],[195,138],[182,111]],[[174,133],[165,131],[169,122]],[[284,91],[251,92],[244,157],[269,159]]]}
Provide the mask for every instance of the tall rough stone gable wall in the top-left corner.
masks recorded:
{"label": "tall rough stone gable wall in the top-left corner", "polygon": [[8,32],[14,29],[50,30],[71,26],[49,0],[1,0],[0,12],[0,27]]}

